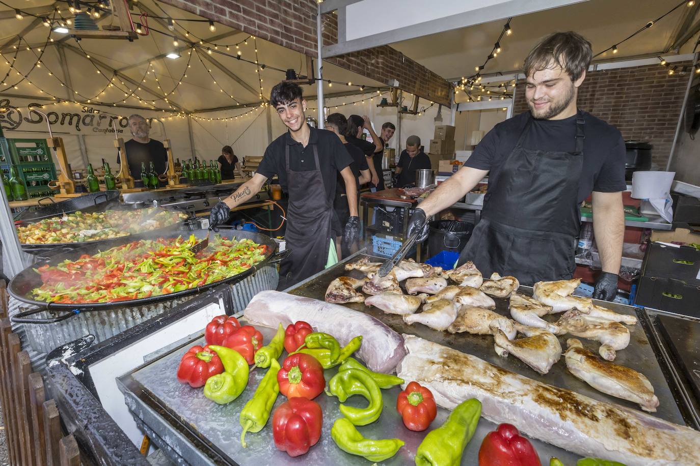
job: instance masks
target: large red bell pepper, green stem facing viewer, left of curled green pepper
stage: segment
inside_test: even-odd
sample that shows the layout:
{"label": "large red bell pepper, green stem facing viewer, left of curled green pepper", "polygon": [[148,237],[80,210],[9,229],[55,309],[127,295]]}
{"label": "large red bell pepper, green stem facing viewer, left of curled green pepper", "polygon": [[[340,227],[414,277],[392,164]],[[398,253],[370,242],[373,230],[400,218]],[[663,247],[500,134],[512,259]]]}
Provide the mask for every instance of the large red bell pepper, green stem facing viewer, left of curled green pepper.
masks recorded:
{"label": "large red bell pepper, green stem facing viewer, left of curled green pepper", "polygon": [[323,392],[323,366],[314,356],[297,353],[287,358],[277,372],[279,391],[287,398],[297,396],[313,400]]}

